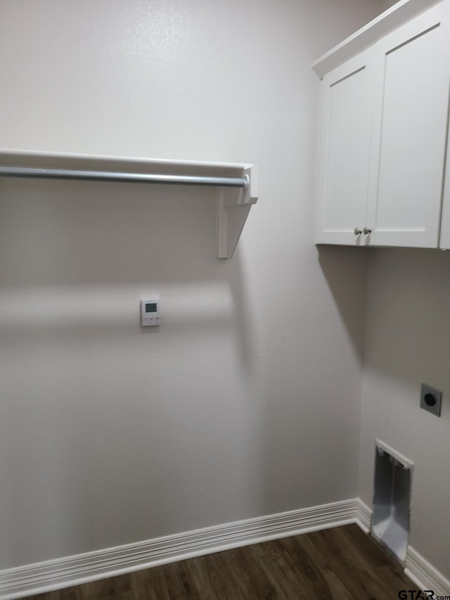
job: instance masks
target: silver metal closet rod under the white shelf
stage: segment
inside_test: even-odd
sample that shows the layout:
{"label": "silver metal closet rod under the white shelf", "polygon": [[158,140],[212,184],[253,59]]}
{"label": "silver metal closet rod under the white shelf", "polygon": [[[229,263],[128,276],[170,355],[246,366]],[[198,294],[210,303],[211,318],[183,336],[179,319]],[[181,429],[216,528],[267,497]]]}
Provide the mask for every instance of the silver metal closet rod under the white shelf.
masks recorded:
{"label": "silver metal closet rod under the white shelf", "polygon": [[130,181],[148,184],[181,184],[188,186],[248,187],[250,178],[206,177],[199,175],[160,175],[75,169],[44,169],[39,167],[1,167],[0,177],[29,177],[37,179],[86,179],[91,181]]}

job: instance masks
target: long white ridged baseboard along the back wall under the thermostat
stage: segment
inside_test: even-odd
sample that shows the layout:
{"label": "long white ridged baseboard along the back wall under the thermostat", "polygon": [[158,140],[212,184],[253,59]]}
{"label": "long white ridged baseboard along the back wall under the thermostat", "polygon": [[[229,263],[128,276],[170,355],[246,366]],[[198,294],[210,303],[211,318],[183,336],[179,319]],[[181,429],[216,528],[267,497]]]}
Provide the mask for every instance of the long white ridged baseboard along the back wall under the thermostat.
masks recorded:
{"label": "long white ridged baseboard along the back wall under the thermostat", "polygon": [[181,561],[193,556],[257,544],[357,521],[356,499],[237,521],[0,571],[0,600]]}

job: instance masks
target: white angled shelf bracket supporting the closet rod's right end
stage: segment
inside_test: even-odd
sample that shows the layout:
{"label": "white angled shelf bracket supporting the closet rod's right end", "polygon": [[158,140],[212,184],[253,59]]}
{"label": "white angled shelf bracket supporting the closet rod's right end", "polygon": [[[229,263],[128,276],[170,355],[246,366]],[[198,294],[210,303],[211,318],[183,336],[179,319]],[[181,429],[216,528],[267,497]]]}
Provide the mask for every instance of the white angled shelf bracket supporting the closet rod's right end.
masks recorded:
{"label": "white angled shelf bracket supporting the closet rod's right end", "polygon": [[258,169],[245,168],[248,185],[243,189],[217,189],[217,258],[231,258],[252,204],[258,199]]}

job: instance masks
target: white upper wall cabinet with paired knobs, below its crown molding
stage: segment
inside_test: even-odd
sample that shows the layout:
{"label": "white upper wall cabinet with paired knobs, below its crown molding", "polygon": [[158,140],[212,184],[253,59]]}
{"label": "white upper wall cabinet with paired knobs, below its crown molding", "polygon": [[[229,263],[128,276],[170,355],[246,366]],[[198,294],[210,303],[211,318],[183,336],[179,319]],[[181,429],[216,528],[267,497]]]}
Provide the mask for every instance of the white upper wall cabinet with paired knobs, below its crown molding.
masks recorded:
{"label": "white upper wall cabinet with paired knobs, below its crown molding", "polygon": [[323,77],[317,243],[438,247],[449,21],[445,0]]}

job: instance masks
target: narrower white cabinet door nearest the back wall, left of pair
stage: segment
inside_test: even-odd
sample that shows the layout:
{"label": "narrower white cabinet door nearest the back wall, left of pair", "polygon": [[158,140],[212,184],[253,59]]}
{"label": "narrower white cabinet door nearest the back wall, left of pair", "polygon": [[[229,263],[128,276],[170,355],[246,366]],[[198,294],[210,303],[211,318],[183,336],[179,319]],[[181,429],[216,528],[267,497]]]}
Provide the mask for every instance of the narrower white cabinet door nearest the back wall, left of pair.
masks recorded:
{"label": "narrower white cabinet door nearest the back wall, left of pair", "polygon": [[373,49],[321,84],[319,218],[316,243],[357,245],[366,223],[373,98]]}

